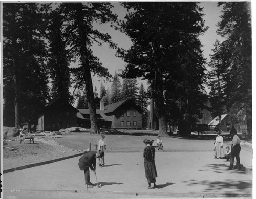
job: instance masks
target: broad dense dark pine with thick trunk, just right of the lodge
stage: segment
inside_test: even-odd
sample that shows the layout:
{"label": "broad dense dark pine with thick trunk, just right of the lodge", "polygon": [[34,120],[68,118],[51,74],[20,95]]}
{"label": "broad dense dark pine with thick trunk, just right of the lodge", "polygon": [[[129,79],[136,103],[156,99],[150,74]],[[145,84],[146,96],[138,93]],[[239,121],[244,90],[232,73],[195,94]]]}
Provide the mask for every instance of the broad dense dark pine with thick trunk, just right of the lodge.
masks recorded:
{"label": "broad dense dark pine with thick trunk, just right of the lodge", "polygon": [[[164,89],[169,77],[174,71],[178,73],[182,62],[186,64],[184,69],[189,69],[193,64],[200,71],[200,76],[200,68],[204,68],[202,45],[198,38],[207,30],[202,8],[196,2],[129,2],[123,5],[130,12],[121,27],[133,41],[128,51],[119,51],[128,63],[123,76],[143,77],[150,81],[159,134],[168,136]],[[193,71],[193,68],[189,71]],[[168,80],[165,78],[167,75]],[[189,82],[183,85],[189,85]],[[186,95],[189,96],[189,92]]]}

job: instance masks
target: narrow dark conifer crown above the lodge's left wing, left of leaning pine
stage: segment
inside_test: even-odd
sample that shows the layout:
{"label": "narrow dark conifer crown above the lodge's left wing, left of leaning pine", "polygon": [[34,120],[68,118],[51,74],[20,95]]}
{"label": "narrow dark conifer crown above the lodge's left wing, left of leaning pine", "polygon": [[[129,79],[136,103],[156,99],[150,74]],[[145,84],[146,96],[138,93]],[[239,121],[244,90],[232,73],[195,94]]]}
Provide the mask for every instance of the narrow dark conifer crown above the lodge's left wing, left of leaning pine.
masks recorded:
{"label": "narrow dark conifer crown above the lodge's left wing, left of leaning pine", "polygon": [[63,15],[60,15],[57,10],[53,10],[49,14],[49,64],[50,77],[52,79],[51,89],[51,101],[55,101],[58,98],[72,102],[69,89],[71,87],[71,78],[69,65],[71,61],[71,55],[66,49],[67,42],[65,38],[65,32],[63,32],[62,21]]}

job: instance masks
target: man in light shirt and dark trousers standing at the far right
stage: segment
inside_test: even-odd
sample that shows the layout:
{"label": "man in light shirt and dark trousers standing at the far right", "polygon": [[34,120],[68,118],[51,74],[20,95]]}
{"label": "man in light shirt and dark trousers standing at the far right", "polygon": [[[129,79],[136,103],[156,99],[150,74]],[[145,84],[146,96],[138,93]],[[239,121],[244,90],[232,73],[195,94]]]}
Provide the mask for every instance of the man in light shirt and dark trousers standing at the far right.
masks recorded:
{"label": "man in light shirt and dark trousers standing at the far right", "polygon": [[239,157],[239,153],[241,151],[240,138],[238,137],[236,130],[233,130],[231,132],[231,135],[233,136],[233,139],[232,139],[232,146],[231,146],[230,165],[227,168],[227,170],[233,169],[234,158],[235,157],[236,157],[236,160],[237,160],[237,165],[235,167],[237,169],[240,169],[240,157]]}

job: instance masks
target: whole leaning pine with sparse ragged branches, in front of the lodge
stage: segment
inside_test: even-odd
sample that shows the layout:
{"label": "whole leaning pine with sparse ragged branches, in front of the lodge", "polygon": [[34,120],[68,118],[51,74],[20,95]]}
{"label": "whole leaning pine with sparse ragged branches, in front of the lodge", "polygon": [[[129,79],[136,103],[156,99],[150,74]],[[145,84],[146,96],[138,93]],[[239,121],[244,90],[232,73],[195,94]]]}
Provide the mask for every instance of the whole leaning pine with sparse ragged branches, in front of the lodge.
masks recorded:
{"label": "whole leaning pine with sparse ragged branches, in front of the lodge", "polygon": [[111,48],[116,45],[109,34],[101,33],[95,29],[94,23],[113,23],[117,16],[112,13],[110,3],[74,2],[61,3],[58,7],[59,14],[65,16],[62,23],[65,25],[63,32],[66,35],[69,53],[80,58],[78,68],[72,72],[76,76],[78,84],[86,86],[88,106],[90,110],[91,133],[98,133],[96,120],[96,106],[92,85],[91,72],[99,76],[110,77],[108,69],[102,66],[99,59],[93,56],[91,47],[93,43],[102,45],[109,43]]}

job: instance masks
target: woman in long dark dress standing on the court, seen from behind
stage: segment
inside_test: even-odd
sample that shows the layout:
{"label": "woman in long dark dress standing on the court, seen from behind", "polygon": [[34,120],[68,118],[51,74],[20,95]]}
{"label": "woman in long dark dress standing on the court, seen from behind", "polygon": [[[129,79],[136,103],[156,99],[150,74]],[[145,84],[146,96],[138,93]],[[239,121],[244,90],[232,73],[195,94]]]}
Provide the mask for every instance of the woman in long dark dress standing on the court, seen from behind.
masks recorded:
{"label": "woman in long dark dress standing on the court, seen from behind", "polygon": [[155,148],[152,146],[152,142],[148,139],[143,141],[146,145],[143,153],[144,167],[146,179],[148,182],[148,189],[152,189],[151,183],[154,183],[153,188],[158,188],[156,185],[157,170],[155,165]]}

